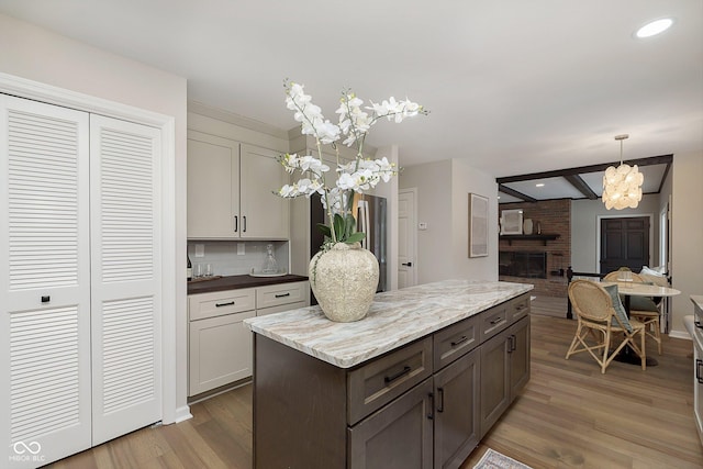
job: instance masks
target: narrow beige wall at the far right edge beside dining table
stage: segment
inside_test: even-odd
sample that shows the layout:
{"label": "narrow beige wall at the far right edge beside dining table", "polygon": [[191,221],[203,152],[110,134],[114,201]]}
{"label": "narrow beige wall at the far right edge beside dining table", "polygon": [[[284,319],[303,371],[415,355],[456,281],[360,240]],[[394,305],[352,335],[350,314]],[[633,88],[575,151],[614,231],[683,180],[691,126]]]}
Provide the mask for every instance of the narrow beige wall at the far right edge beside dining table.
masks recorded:
{"label": "narrow beige wall at the far right edge beside dining table", "polygon": [[671,202],[671,277],[681,294],[672,300],[671,335],[689,337],[683,316],[692,294],[703,294],[703,152],[674,155]]}

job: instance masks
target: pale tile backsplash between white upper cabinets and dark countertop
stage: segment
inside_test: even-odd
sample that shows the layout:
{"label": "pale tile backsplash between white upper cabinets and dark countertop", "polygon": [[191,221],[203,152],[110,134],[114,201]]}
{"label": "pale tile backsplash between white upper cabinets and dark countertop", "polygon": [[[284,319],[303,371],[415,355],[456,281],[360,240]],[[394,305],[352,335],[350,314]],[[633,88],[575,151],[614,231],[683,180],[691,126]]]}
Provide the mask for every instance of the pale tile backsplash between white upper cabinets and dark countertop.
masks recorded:
{"label": "pale tile backsplash between white upper cabinets and dark countertop", "polygon": [[[214,276],[238,276],[252,271],[258,272],[266,260],[266,246],[274,245],[274,256],[281,271],[290,271],[289,243],[287,241],[188,241],[188,256],[196,275],[198,265],[212,266]],[[203,256],[197,257],[197,250]],[[243,253],[243,254],[237,254]]]}

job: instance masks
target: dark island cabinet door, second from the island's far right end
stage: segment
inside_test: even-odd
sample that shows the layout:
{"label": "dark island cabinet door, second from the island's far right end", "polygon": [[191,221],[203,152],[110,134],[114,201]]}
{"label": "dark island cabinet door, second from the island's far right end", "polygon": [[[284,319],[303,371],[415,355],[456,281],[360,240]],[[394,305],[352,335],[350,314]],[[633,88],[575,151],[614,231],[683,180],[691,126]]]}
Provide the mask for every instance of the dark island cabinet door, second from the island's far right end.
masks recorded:
{"label": "dark island cabinet door, second from the island's far right end", "polygon": [[481,345],[481,438],[510,405],[510,330]]}

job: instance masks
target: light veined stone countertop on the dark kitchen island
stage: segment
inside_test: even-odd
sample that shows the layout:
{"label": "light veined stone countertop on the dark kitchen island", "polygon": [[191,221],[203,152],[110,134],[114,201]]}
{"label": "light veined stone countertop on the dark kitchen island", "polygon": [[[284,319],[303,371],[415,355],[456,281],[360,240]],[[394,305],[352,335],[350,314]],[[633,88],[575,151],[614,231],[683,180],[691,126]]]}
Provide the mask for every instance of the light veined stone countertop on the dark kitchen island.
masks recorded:
{"label": "light veined stone countertop on the dark kitchen island", "polygon": [[532,284],[445,280],[377,293],[368,315],[335,323],[320,306],[250,317],[256,334],[350,368],[533,289]]}

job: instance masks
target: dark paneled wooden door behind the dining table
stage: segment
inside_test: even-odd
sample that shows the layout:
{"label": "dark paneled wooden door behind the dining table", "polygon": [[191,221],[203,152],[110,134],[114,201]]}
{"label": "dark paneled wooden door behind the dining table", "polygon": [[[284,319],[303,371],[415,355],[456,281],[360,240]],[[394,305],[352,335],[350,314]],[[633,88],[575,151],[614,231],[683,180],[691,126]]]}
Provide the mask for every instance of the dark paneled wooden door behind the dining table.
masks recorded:
{"label": "dark paneled wooden door behind the dining table", "polygon": [[601,273],[649,265],[649,217],[601,220]]}

